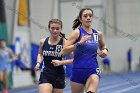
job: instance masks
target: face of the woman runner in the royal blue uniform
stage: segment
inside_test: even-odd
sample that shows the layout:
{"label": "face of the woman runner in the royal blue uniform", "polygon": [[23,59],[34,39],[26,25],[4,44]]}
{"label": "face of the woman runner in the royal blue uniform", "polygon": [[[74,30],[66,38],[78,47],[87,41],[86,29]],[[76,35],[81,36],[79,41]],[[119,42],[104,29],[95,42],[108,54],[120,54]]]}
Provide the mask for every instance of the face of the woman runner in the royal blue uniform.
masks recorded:
{"label": "face of the woman runner in the royal blue uniform", "polygon": [[85,10],[82,14],[82,18],[80,21],[82,22],[82,25],[86,27],[90,27],[92,25],[93,20],[93,14],[91,10]]}

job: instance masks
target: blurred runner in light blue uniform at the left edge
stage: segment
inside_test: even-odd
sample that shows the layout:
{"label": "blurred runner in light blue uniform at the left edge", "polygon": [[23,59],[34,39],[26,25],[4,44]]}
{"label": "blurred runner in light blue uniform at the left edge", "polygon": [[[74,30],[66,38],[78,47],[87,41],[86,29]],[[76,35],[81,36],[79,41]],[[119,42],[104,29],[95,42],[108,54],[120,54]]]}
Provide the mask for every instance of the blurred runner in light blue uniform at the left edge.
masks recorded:
{"label": "blurred runner in light blue uniform at the left edge", "polygon": [[8,93],[10,63],[15,59],[13,51],[6,46],[6,41],[0,39],[0,82],[3,85],[3,93]]}

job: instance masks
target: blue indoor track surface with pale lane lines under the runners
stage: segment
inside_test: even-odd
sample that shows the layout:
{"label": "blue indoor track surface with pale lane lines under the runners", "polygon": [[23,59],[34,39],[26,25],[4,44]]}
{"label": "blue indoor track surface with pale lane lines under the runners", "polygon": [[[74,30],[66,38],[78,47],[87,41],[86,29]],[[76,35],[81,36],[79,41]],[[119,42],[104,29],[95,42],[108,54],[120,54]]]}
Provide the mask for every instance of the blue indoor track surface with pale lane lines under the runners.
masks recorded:
{"label": "blue indoor track surface with pale lane lines under the runners", "polygon": [[[66,79],[65,93],[71,93]],[[9,93],[38,93],[37,85],[12,89]],[[102,75],[97,93],[140,93],[140,71]]]}

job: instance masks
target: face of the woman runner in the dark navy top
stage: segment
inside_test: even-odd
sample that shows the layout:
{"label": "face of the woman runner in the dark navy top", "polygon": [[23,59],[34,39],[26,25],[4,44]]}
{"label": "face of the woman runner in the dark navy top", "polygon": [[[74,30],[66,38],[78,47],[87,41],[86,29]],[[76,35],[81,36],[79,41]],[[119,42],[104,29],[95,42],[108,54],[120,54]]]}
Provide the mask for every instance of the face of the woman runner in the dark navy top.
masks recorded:
{"label": "face of the woman runner in the dark navy top", "polygon": [[50,24],[50,33],[52,37],[58,37],[62,28],[60,24],[52,23]]}

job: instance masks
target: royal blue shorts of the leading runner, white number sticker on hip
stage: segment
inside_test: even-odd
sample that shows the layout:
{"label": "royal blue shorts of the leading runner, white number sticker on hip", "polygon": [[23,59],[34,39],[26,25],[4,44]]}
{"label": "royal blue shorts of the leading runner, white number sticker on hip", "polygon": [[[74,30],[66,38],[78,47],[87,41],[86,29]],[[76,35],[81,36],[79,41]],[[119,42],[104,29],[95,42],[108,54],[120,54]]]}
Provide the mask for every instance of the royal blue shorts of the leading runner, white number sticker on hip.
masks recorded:
{"label": "royal blue shorts of the leading runner, white number sticker on hip", "polygon": [[100,68],[73,68],[70,80],[76,83],[86,84],[90,75],[96,74],[100,78]]}

